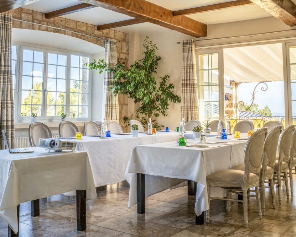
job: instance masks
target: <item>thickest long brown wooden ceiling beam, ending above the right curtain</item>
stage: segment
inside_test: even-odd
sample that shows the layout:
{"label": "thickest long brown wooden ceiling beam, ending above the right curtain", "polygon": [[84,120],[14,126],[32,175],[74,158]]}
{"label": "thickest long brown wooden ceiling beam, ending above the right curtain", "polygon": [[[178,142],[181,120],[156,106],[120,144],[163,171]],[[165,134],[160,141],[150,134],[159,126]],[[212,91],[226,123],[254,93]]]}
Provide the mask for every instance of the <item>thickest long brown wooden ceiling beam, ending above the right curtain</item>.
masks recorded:
{"label": "thickest long brown wooden ceiling beam, ending above the right curtain", "polygon": [[185,16],[174,17],[173,11],[144,0],[80,0],[137,19],[176,30],[193,37],[207,35],[207,26]]}

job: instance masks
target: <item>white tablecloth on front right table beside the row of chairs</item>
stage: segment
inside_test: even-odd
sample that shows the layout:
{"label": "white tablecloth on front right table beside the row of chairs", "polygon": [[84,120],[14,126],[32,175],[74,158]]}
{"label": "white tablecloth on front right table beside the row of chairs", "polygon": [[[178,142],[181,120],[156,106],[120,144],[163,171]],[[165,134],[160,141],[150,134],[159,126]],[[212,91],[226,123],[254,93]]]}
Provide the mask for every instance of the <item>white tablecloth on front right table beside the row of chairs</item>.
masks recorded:
{"label": "white tablecloth on front right table beside the row of chairs", "polygon": [[[233,136],[228,137],[232,138]],[[208,137],[207,141],[216,142],[221,139]],[[145,174],[146,197],[171,188],[184,180],[197,182],[195,213],[200,215],[203,211],[208,210],[206,176],[244,162],[243,152],[246,140],[227,141],[237,143],[231,145],[207,144],[220,146],[216,148],[192,148],[179,146],[176,142],[137,146],[132,151],[124,175],[130,184],[128,206],[132,207],[137,204],[136,173],[142,173]],[[186,142],[187,145],[193,145],[197,140],[186,140]]]}

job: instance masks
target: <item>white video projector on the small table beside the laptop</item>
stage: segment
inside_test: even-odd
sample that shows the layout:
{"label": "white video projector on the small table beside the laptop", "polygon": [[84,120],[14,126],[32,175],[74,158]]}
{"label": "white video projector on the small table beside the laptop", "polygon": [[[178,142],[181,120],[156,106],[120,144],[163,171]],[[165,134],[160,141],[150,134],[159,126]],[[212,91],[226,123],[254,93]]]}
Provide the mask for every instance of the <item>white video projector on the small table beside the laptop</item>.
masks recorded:
{"label": "white video projector on the small table beside the laptop", "polygon": [[48,152],[55,150],[61,152],[62,150],[74,151],[76,148],[76,142],[62,141],[55,138],[39,138],[38,147],[48,149]]}

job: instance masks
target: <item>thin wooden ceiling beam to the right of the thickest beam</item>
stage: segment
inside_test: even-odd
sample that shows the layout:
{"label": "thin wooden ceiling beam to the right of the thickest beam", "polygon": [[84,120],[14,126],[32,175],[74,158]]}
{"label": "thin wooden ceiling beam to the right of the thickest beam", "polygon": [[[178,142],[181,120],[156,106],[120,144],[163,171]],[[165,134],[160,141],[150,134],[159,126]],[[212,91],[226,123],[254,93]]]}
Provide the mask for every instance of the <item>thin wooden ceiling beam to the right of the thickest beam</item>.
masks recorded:
{"label": "thin wooden ceiling beam to the right of the thickest beam", "polygon": [[201,6],[196,8],[189,8],[179,11],[174,11],[174,16],[184,16],[184,15],[190,15],[195,13],[202,13],[202,12],[210,12],[210,11],[216,11],[226,8],[234,8],[244,5],[251,5],[254,4],[250,0],[237,0],[237,1],[231,1],[227,3],[217,3],[207,6]]}

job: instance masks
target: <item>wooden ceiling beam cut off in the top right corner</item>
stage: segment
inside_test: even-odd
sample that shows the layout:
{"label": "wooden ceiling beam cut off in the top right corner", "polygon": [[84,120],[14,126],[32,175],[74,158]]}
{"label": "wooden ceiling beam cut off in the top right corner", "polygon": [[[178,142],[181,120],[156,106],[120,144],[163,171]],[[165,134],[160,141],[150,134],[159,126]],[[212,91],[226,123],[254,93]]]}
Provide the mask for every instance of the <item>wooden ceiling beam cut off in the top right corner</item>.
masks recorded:
{"label": "wooden ceiling beam cut off in the top right corner", "polygon": [[251,0],[289,26],[296,26],[296,5],[291,0]]}

